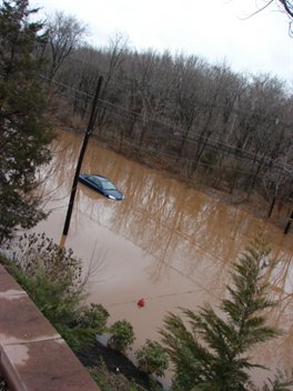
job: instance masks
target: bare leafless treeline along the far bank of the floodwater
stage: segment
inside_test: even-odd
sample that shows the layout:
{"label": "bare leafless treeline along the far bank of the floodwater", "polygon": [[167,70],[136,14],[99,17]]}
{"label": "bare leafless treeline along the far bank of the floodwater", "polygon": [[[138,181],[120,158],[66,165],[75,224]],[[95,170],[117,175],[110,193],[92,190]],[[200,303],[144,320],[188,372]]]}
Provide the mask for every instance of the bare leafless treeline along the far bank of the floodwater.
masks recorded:
{"label": "bare leafless treeline along the far bank of the floodwater", "polygon": [[[271,207],[293,196],[293,97],[270,74],[239,74],[196,56],[80,46],[44,76],[59,118],[84,126],[103,76],[94,132],[123,153],[233,193],[256,190]],[[42,54],[43,54],[42,53]],[[57,100],[55,100],[57,103]],[[59,110],[58,110],[59,108]]]}

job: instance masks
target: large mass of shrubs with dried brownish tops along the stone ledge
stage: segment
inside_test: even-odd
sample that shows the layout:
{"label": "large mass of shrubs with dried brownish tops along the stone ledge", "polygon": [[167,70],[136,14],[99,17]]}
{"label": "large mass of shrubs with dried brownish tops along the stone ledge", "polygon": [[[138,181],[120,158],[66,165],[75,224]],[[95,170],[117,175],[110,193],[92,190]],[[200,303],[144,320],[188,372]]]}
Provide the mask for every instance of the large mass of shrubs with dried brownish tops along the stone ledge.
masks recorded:
{"label": "large mass of shrubs with dried brownish tops along the stone ledge", "polygon": [[94,344],[105,330],[108,311],[84,300],[81,260],[44,234],[23,235],[7,268],[44,317],[74,350]]}

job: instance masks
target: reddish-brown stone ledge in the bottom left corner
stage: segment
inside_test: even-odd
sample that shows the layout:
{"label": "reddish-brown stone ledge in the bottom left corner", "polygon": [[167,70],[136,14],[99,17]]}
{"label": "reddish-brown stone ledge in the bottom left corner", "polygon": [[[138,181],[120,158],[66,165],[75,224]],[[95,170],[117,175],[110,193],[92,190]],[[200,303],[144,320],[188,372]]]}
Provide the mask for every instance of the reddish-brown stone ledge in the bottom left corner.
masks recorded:
{"label": "reddish-brown stone ledge in the bottom left corner", "polygon": [[71,349],[0,265],[0,371],[12,391],[99,391]]}

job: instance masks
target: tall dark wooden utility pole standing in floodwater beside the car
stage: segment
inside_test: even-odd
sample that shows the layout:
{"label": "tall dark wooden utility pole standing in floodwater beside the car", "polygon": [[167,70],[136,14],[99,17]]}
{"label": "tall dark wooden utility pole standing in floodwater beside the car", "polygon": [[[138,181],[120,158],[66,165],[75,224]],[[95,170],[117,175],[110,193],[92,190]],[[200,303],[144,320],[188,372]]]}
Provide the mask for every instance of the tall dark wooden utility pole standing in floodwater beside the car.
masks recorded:
{"label": "tall dark wooden utility pole standing in floodwater beside the car", "polygon": [[64,228],[63,228],[64,235],[68,234],[71,214],[72,214],[73,204],[74,204],[74,199],[75,199],[75,193],[77,193],[77,188],[78,188],[78,182],[79,182],[80,169],[81,169],[83,157],[84,157],[84,153],[85,153],[85,150],[88,147],[89,138],[92,133],[93,126],[94,126],[97,114],[98,114],[97,104],[98,104],[98,99],[99,99],[101,87],[102,87],[102,81],[103,81],[103,78],[100,76],[100,78],[98,80],[95,94],[94,94],[94,98],[92,101],[92,108],[91,108],[91,114],[90,114],[90,119],[89,119],[89,123],[88,123],[88,129],[87,129],[84,138],[83,138],[82,147],[80,150],[80,156],[79,156],[79,160],[78,160],[78,164],[77,164],[77,169],[75,169],[75,174],[73,178],[73,183],[72,183],[72,188],[71,188],[71,196],[70,196],[70,201],[69,201],[69,205],[68,205],[65,223],[64,223]]}

